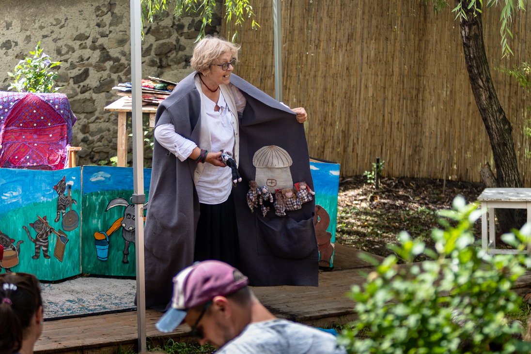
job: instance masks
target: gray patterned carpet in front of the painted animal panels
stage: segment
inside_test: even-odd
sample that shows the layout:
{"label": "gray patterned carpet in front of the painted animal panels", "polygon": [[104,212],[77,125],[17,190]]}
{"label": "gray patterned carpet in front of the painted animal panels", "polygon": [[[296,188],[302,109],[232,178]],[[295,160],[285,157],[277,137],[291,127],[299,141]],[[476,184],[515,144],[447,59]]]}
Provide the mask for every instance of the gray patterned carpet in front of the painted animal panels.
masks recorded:
{"label": "gray patterned carpet in front of the painted animal panels", "polygon": [[45,321],[136,309],[136,280],[77,278],[41,287]]}

